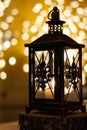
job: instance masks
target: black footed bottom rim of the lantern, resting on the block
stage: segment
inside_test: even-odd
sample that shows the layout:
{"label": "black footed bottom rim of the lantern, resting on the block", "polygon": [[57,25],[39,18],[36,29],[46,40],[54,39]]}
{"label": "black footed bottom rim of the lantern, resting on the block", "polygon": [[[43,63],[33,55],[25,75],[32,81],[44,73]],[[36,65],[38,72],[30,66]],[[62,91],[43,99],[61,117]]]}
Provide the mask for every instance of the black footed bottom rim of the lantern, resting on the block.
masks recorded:
{"label": "black footed bottom rim of the lantern, resting on the block", "polygon": [[40,112],[43,114],[53,114],[53,115],[67,115],[68,113],[72,113],[73,111],[81,111],[81,112],[86,112],[86,106],[68,106],[64,108],[53,108],[53,107],[26,107],[26,113],[32,113],[33,111]]}

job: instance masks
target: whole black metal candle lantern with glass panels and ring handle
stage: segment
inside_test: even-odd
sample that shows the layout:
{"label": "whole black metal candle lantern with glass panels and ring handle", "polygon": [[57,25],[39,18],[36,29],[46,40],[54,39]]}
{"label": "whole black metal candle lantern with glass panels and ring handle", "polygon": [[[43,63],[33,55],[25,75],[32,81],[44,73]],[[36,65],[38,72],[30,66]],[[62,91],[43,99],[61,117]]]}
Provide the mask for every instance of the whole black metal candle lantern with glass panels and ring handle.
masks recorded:
{"label": "whole black metal candle lantern with glass panels and ring handle", "polygon": [[82,106],[82,48],[63,34],[64,21],[59,9],[48,14],[49,30],[29,48],[29,106],[26,112],[39,111],[66,113]]}

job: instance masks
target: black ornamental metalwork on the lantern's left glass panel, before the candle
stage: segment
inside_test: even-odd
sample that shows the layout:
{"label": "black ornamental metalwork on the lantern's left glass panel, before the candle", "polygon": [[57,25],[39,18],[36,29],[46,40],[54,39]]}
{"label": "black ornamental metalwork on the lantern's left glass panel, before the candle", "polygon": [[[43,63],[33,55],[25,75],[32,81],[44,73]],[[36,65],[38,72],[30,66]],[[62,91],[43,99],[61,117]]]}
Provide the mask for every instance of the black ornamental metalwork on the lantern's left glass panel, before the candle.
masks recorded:
{"label": "black ornamental metalwork on the lantern's left glass panel, before the candle", "polygon": [[35,80],[36,80],[36,82],[39,83],[38,89],[40,87],[40,88],[42,88],[42,90],[44,90],[46,88],[46,83],[47,83],[51,90],[49,82],[51,81],[54,74],[51,71],[51,66],[49,65],[49,62],[48,62],[48,64],[46,64],[46,62],[45,62],[46,57],[44,57],[44,53],[42,53],[41,59],[39,60],[36,55],[36,58],[37,58],[39,64],[36,67]]}

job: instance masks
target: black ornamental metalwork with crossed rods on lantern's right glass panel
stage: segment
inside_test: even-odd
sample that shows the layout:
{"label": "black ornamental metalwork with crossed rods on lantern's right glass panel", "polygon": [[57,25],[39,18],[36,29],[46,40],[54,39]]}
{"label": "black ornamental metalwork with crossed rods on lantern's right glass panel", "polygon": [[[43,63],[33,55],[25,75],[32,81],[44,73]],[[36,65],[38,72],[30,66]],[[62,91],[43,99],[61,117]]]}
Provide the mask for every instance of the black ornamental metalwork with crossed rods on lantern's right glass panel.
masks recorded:
{"label": "black ornamental metalwork with crossed rods on lantern's right glass panel", "polygon": [[[70,65],[70,61],[69,61],[67,52],[66,52],[66,56],[67,56],[67,60],[66,60],[66,62],[67,62],[66,63],[66,66],[67,66],[66,78],[69,79],[69,83],[71,84],[71,85],[69,85],[69,89],[68,89],[68,93],[67,93],[66,98],[68,98],[71,87],[73,87],[78,99],[80,99],[80,91],[79,91],[79,88],[78,88],[78,83],[80,82],[81,77],[80,77],[80,68],[77,66],[78,59],[79,59],[79,57],[77,58],[78,53],[77,53],[76,57],[73,56],[73,62],[72,62],[71,65]],[[75,62],[76,58],[77,58],[77,62]]]}

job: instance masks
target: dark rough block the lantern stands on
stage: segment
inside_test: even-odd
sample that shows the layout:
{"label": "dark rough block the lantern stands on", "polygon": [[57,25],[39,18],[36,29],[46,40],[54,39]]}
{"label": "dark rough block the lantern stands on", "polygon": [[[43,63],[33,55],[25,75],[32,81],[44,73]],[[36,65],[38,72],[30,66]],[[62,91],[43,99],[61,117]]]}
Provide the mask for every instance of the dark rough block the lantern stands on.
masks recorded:
{"label": "dark rough block the lantern stands on", "polygon": [[20,114],[20,130],[86,130],[87,113],[72,112],[66,116]]}

